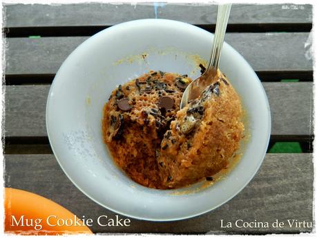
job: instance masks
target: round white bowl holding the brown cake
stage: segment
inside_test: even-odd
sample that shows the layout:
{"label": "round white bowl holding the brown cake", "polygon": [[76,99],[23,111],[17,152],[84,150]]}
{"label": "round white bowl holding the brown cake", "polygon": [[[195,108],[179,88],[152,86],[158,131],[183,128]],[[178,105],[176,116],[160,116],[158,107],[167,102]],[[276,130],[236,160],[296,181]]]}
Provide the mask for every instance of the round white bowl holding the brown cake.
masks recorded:
{"label": "round white bowl holding the brown cake", "polygon": [[[195,55],[209,59],[212,40],[213,34],[187,23],[143,19],[102,30],[69,55],[50,88],[46,127],[59,165],[81,192],[128,217],[171,221],[213,210],[249,183],[267,150],[269,103],[256,73],[227,43],[220,70],[242,98],[251,139],[226,179],[202,190],[195,190],[199,184],[178,190],[145,188],[115,165],[102,142],[102,107],[115,86],[148,70],[188,74],[195,79],[200,75]],[[194,192],[182,193],[184,190]]]}

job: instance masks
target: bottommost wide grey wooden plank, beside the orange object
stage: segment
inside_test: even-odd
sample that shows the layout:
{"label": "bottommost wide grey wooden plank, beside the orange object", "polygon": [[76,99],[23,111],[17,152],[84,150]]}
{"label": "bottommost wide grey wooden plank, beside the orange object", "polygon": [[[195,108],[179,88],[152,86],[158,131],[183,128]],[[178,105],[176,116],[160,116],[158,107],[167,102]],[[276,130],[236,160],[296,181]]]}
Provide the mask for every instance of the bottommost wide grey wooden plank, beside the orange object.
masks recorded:
{"label": "bottommost wide grey wooden plank, beside the orange object", "polygon": [[[287,219],[313,221],[314,166],[311,154],[267,154],[260,170],[236,197],[204,215],[183,221],[151,222],[131,219],[131,226],[97,226],[97,217],[115,213],[88,199],[64,175],[53,155],[6,155],[6,187],[35,192],[81,217],[92,218],[93,232],[278,233],[309,232],[290,228]],[[123,216],[119,216],[124,218]],[[285,222],[284,228],[221,228],[220,222],[238,219]]]}

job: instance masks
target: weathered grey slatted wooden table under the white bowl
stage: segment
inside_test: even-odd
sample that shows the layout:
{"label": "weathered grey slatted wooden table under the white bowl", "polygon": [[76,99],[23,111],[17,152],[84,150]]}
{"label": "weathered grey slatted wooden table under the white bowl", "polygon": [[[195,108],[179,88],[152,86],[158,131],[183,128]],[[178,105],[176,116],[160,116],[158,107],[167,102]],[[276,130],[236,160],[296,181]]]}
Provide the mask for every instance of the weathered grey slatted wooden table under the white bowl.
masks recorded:
{"label": "weathered grey slatted wooden table under the white bowl", "polygon": [[[165,18],[185,21],[211,32],[215,6],[7,5],[6,31],[6,187],[35,192],[77,216],[94,220],[115,213],[95,204],[64,175],[45,126],[46,98],[59,66],[95,32],[123,21]],[[251,64],[271,107],[271,144],[298,141],[305,153],[267,154],[250,184],[231,201],[199,217],[173,222],[132,219],[131,226],[92,227],[93,232],[162,232],[178,234],[309,232],[311,228],[221,228],[220,221],[312,221],[313,163],[311,141],[312,61],[309,5],[235,5],[226,41]],[[38,37],[40,36],[40,37]],[[281,79],[299,79],[282,82]],[[122,217],[122,216],[120,216]]]}

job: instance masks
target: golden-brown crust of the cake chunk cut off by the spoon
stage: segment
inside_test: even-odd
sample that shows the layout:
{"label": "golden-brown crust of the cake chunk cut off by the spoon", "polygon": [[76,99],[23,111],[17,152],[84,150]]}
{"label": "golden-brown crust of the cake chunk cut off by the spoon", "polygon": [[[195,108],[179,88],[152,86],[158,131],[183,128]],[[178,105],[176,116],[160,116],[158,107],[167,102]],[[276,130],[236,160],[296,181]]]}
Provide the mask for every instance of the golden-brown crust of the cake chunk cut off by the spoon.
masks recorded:
{"label": "golden-brown crust of the cake chunk cut off by the spoon", "polygon": [[[212,93],[206,101],[191,103],[177,112],[171,130],[166,132],[169,139],[162,141],[158,159],[165,186],[180,188],[214,175],[227,166],[229,158],[238,150],[244,130],[242,108],[238,94],[228,82],[221,74],[217,83],[219,95]],[[203,106],[202,118],[191,132],[184,134],[182,125],[191,116],[188,111],[198,106]]]}

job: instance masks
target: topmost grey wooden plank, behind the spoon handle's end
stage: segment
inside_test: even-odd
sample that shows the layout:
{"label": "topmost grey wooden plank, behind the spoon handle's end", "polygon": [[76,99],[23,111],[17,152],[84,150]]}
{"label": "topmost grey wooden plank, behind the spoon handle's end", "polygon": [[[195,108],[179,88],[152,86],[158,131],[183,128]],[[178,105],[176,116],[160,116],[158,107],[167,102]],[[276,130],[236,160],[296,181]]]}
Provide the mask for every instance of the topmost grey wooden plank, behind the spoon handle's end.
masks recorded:
{"label": "topmost grey wooden plank, behind the spoon handle's end", "polygon": [[[156,9],[156,14],[155,14]],[[93,12],[93,14],[91,14]],[[84,3],[60,5],[6,5],[5,27],[113,26],[146,18],[175,19],[195,25],[215,24],[217,6],[206,4]],[[311,23],[311,5],[234,4],[229,24]]]}

